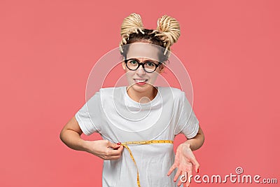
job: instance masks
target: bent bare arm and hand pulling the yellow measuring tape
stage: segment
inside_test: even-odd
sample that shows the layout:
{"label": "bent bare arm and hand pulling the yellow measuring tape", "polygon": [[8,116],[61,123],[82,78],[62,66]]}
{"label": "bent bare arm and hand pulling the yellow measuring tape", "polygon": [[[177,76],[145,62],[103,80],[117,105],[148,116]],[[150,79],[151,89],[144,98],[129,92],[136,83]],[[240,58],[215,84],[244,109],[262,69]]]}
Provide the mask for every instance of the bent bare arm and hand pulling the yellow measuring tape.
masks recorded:
{"label": "bent bare arm and hand pulling the yellow measuring tape", "polygon": [[86,151],[97,155],[103,160],[116,160],[120,158],[123,146],[113,144],[108,140],[85,141],[80,135],[83,134],[75,116],[69,120],[60,132],[60,139],[66,146],[77,151]]}

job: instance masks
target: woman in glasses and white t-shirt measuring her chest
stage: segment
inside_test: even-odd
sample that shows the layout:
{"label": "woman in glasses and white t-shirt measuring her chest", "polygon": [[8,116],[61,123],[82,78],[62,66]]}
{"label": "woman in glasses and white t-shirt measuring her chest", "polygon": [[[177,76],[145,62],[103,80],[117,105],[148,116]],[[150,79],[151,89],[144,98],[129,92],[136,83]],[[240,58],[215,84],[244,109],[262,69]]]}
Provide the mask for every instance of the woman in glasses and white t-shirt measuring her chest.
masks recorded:
{"label": "woman in glasses and white t-shirt measuring her chest", "polygon": [[[145,29],[140,15],[132,13],[123,21],[121,36],[129,85],[101,88],[64,126],[60,138],[104,160],[103,186],[176,186],[176,181],[181,186],[186,174],[199,172],[193,151],[202,146],[204,134],[184,92],[153,85],[180,36],[179,22],[164,15],[156,30]],[[93,132],[103,140],[80,138]],[[179,133],[188,139],[174,155]]]}

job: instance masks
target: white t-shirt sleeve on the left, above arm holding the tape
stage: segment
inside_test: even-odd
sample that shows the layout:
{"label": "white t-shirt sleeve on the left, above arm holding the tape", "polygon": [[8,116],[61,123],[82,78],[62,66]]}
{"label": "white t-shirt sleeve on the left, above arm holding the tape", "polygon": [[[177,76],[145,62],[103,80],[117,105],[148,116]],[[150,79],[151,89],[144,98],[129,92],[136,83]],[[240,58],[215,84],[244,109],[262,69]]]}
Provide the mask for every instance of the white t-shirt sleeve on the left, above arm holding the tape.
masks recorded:
{"label": "white t-shirt sleeve on the left, above arm holding the tape", "polygon": [[98,121],[100,118],[100,95],[96,92],[75,114],[78,125],[84,134],[90,135],[99,132]]}

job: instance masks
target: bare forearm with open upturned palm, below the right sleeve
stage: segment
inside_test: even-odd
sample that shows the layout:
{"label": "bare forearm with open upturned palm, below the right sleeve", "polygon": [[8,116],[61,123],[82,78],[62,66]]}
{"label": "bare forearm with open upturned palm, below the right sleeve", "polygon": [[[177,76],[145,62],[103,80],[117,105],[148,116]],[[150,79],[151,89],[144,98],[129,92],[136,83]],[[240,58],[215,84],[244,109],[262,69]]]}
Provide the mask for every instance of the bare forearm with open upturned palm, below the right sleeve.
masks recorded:
{"label": "bare forearm with open upturned palm, below the right sleeve", "polygon": [[181,186],[181,183],[186,182],[186,186],[190,186],[190,181],[184,176],[189,177],[193,174],[193,167],[195,167],[195,171],[198,173],[200,164],[197,162],[193,151],[197,150],[204,143],[204,133],[202,129],[199,128],[197,135],[192,139],[188,139],[183,144],[180,144],[176,150],[174,165],[170,167],[168,176],[174,171],[174,169],[178,168],[175,176],[174,182],[178,180],[179,176],[180,181],[178,182],[178,186]]}

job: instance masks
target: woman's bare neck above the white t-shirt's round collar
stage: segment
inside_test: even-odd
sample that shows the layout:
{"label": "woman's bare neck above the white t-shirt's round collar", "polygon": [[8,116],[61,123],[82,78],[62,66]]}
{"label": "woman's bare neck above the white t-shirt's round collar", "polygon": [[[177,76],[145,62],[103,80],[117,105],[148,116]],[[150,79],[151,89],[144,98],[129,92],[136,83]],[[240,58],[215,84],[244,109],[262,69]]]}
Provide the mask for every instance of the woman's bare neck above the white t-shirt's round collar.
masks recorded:
{"label": "woman's bare neck above the white t-shirt's round collar", "polygon": [[148,89],[143,92],[134,90],[133,87],[127,89],[127,95],[129,95],[132,100],[139,103],[151,102],[157,94],[158,90],[153,86],[151,87],[151,89]]}

